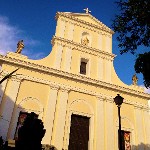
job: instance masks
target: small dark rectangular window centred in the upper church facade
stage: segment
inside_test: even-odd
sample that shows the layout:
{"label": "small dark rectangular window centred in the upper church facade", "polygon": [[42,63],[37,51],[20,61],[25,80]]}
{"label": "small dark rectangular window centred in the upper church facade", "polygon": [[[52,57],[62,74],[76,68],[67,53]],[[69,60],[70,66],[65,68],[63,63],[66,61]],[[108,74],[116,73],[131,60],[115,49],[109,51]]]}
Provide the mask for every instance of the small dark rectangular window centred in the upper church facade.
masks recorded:
{"label": "small dark rectangular window centred in the upper church facade", "polygon": [[87,69],[88,69],[88,60],[81,58],[81,63],[80,63],[80,74],[87,74]]}

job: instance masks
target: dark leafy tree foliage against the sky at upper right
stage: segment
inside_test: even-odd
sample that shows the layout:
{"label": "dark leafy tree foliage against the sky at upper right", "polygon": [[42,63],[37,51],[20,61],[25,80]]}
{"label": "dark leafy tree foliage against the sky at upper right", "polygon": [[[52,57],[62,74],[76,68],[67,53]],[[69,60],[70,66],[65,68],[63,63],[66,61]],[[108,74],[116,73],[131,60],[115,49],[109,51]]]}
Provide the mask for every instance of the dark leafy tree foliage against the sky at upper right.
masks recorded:
{"label": "dark leafy tree foliage against the sky at upper right", "polygon": [[[119,0],[120,9],[112,27],[118,32],[120,53],[136,54],[139,46],[150,46],[150,0]],[[142,73],[144,84],[150,87],[150,51],[139,54],[135,62],[136,73]]]}

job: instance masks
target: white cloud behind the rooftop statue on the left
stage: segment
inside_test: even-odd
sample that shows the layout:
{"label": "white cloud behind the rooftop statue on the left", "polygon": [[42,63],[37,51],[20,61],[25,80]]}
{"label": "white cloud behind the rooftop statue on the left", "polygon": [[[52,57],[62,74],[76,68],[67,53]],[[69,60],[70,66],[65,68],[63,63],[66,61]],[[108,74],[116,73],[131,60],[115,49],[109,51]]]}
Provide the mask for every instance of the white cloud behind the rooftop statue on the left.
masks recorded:
{"label": "white cloud behind the rooftop statue on the left", "polygon": [[[12,26],[7,17],[0,16],[0,54],[5,55],[8,51],[16,51],[17,42],[23,39],[25,48],[22,53],[34,58],[34,51],[30,49],[33,49],[33,47],[36,47],[41,43],[30,37],[23,36],[24,33],[25,31],[16,26]],[[36,55],[39,56],[40,54]],[[37,56],[35,56],[35,59],[37,59]]]}

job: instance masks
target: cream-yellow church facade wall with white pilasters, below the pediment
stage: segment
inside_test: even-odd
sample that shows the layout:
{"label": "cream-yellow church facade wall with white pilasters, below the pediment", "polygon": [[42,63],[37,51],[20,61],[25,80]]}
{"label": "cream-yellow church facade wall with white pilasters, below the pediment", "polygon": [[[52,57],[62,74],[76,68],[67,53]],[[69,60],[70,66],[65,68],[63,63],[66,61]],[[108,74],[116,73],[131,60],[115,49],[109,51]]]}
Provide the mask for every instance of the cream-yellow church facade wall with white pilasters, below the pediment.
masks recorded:
{"label": "cream-yellow church facade wall with white pilasters, below the pediment", "polygon": [[[108,36],[111,39],[110,33],[87,30],[64,20],[66,18],[58,17],[56,36],[81,43],[82,32],[87,31],[92,36],[93,50],[97,48],[104,54],[111,54],[111,40],[108,47],[106,44]],[[72,31],[71,35],[69,31]],[[94,39],[99,36],[99,40]],[[52,43],[51,54],[42,60],[29,60],[16,53],[7,55],[18,64],[7,63],[6,59],[2,66],[4,75],[20,69],[1,86],[0,133],[5,138],[13,139],[19,112],[34,111],[39,114],[46,128],[42,143],[52,144],[58,150],[68,149],[71,115],[78,114],[90,118],[89,150],[99,150],[100,147],[116,150],[118,114],[113,98],[120,93],[124,97],[121,107],[122,129],[131,132],[132,145],[140,142],[150,144],[148,96],[142,93],[143,90],[122,83],[113,68],[113,60],[108,56],[81,51],[73,43],[67,45],[58,39]],[[79,74],[81,58],[89,60],[87,75]],[[28,65],[23,65],[23,61]],[[41,65],[40,68],[38,65]],[[41,71],[43,68],[45,70]],[[52,69],[51,72],[48,69]],[[108,84],[112,87],[108,87]],[[117,90],[115,85],[122,90]],[[4,125],[5,132],[2,131]]]}

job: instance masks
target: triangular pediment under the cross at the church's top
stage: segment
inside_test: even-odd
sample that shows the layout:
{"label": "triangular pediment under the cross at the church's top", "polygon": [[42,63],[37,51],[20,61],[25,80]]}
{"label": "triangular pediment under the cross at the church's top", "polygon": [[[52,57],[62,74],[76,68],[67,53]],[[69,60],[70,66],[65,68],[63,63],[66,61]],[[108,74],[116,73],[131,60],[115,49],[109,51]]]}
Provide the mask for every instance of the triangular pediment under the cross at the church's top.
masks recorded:
{"label": "triangular pediment under the cross at the church's top", "polygon": [[101,29],[103,28],[105,31],[111,32],[112,34],[114,33],[109,27],[107,27],[105,24],[103,24],[101,21],[99,21],[89,13],[58,12],[58,14],[71,17],[76,21],[84,22]]}

